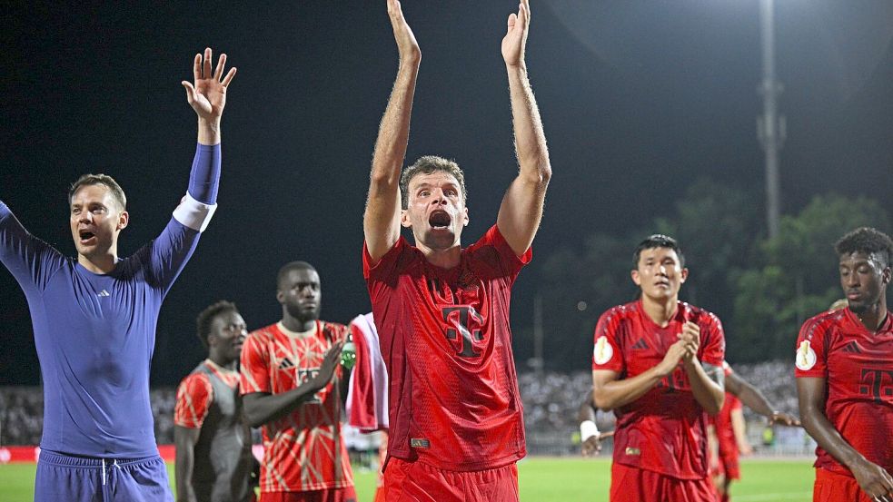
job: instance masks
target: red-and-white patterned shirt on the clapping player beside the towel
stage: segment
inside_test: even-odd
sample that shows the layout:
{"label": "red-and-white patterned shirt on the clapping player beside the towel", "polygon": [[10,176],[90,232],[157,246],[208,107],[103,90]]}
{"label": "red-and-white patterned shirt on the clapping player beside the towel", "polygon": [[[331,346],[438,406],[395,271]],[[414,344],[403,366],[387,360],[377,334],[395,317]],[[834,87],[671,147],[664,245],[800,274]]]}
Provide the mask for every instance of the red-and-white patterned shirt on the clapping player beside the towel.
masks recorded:
{"label": "red-and-white patterned shirt on the clapping player beside the towel", "polygon": [[[251,332],[242,348],[242,394],[282,394],[313,379],[325,353],[347,336],[347,327],[316,322],[294,333],[281,322]],[[286,417],[265,424],[261,491],[309,491],[353,486],[341,429],[342,369]]]}

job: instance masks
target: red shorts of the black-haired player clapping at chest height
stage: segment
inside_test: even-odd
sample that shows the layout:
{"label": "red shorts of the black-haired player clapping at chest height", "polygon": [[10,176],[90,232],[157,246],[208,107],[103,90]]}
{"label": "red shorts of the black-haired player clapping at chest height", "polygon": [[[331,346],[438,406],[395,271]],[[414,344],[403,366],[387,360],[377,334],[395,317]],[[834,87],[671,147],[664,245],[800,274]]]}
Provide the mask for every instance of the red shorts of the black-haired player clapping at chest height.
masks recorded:
{"label": "red shorts of the black-haired player clapping at chest height", "polygon": [[630,468],[613,462],[610,466],[611,502],[715,502],[709,477],[678,479],[658,472]]}

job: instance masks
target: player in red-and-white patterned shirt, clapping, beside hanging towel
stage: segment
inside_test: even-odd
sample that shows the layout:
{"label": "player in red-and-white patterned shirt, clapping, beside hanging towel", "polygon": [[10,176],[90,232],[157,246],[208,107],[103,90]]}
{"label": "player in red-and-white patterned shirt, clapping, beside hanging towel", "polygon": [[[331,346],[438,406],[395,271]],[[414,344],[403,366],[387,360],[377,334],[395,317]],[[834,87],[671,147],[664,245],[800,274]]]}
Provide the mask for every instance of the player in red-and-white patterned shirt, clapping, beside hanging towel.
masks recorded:
{"label": "player in red-and-white patterned shirt, clapping, beside hanging towel", "polygon": [[283,319],[242,349],[244,413],[263,426],[261,502],[355,502],[341,428],[341,349],[348,329],[320,320],[320,276],[286,263],[276,278]]}

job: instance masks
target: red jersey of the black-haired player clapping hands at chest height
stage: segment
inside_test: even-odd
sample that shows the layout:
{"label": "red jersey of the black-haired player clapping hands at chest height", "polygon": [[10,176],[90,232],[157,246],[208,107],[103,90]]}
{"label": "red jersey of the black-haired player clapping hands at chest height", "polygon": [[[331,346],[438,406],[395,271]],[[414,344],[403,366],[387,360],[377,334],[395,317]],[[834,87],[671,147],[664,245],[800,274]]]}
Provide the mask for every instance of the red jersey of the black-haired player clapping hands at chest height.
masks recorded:
{"label": "red jersey of the black-haired player clapping hands at chest height", "polygon": [[[637,300],[601,314],[592,369],[610,369],[629,379],[657,366],[688,320],[700,327],[698,359],[720,366],[726,341],[715,315],[680,301],[673,319],[661,328]],[[679,479],[707,476],[707,413],[691,393],[681,361],[658,386],[614,414],[614,462]]]}

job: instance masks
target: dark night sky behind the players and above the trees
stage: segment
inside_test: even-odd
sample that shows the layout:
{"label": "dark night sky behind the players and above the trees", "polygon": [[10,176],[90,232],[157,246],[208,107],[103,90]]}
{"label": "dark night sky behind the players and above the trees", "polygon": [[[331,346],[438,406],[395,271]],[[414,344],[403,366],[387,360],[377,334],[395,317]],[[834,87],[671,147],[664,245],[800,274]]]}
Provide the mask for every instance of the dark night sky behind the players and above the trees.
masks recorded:
{"label": "dark night sky behind the players and above the trees", "polygon": [[[893,4],[778,4],[783,211],[830,191],[893,211]],[[527,64],[553,177],[534,261],[514,290],[515,331],[531,324],[539,263],[552,249],[640,227],[703,177],[762,193],[758,7],[533,2]],[[493,224],[516,171],[500,54],[516,9],[403,2],[422,48],[407,161],[433,153],[463,167],[465,244]],[[165,301],[154,385],[174,385],[203,358],[194,318],[214,300],[235,301],[250,328],[278,320],[274,276],[286,261],[320,271],[324,319],[370,309],[362,208],[397,70],[384,0],[7,5],[0,41],[0,200],[69,255],[65,194],[84,172],[111,174],[128,195],[122,256],[162,231],[194,152],[195,115],[180,82],[205,46],[239,69],[223,113],[219,209]],[[0,340],[0,384],[38,383],[25,295],[3,268]],[[519,365],[531,355],[515,350]]]}

